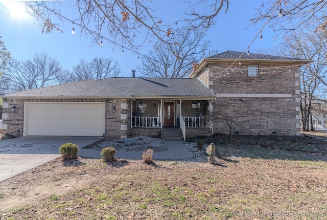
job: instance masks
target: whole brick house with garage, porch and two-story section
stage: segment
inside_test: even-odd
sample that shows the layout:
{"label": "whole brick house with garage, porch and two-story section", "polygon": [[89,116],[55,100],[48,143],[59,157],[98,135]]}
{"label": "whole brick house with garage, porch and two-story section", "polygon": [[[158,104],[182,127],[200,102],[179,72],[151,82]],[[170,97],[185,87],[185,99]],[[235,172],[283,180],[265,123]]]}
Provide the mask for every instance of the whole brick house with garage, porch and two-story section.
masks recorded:
{"label": "whole brick house with garage, porch and two-story section", "polygon": [[189,78],[107,78],[3,94],[3,133],[13,136],[160,137],[299,134],[298,67],[310,60],[226,51]]}

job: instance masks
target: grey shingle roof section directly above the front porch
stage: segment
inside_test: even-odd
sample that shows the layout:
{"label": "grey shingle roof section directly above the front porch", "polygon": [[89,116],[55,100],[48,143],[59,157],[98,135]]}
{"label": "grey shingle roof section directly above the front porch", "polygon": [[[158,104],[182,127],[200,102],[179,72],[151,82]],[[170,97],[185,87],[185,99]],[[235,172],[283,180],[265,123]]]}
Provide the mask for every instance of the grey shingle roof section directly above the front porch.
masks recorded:
{"label": "grey shingle roof section directly above the front porch", "polygon": [[198,79],[107,78],[99,81],[134,96],[215,96]]}

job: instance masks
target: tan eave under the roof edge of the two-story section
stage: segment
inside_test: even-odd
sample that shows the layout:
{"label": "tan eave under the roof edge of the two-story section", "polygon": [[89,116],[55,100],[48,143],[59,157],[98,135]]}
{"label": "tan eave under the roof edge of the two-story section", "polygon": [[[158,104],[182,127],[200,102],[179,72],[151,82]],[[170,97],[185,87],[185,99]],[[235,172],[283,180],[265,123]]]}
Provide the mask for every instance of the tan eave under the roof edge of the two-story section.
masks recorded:
{"label": "tan eave under the roof edge of the two-story section", "polygon": [[[197,69],[193,71],[188,78],[195,78],[206,66],[208,63],[233,63],[236,59],[227,59],[227,58],[204,58],[199,63]],[[296,60],[296,59],[240,59],[242,63],[274,63],[274,64],[288,64],[288,65],[305,65],[313,62],[314,60]]]}

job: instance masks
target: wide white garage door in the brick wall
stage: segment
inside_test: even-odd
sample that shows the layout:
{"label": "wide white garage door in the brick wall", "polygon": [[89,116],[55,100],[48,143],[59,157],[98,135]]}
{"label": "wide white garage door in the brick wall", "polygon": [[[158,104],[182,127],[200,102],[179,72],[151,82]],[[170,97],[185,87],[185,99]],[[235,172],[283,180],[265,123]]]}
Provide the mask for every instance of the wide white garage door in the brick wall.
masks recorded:
{"label": "wide white garage door in the brick wall", "polygon": [[25,136],[103,136],[105,103],[25,103]]}

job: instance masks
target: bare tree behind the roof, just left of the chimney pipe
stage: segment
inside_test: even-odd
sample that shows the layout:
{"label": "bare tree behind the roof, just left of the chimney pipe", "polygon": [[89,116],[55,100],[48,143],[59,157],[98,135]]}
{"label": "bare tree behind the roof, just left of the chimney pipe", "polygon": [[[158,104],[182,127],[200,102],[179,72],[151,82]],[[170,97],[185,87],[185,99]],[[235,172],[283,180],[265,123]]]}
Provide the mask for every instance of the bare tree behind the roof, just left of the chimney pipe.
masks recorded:
{"label": "bare tree behind the roof, just left of the chimney pipe", "polygon": [[87,62],[81,59],[78,65],[73,67],[74,81],[86,79],[104,79],[116,77],[121,74],[121,69],[117,61],[111,58],[93,58]]}

